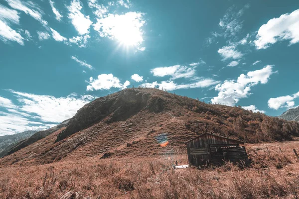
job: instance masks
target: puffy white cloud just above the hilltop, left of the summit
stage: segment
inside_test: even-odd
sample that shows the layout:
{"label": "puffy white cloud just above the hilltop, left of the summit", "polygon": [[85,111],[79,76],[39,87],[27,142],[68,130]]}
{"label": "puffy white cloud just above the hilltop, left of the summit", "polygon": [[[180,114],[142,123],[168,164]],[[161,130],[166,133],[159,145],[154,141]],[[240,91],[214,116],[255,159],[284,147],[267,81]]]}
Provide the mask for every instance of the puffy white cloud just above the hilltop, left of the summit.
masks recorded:
{"label": "puffy white cloud just above the hilltop, left of the summit", "polygon": [[113,74],[101,74],[97,79],[90,77],[88,83],[87,91],[109,90],[111,88],[126,89],[130,85],[129,81],[122,84],[117,77],[113,76]]}

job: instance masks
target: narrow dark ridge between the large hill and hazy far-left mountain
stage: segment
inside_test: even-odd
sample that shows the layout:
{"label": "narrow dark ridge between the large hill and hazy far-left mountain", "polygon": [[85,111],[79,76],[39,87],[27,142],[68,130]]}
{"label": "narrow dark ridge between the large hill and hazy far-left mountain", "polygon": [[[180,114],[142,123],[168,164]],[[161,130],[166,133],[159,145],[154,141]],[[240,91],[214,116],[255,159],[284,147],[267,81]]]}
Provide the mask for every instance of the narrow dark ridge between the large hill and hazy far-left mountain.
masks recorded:
{"label": "narrow dark ridge between the large hill and hazy far-left mountain", "polygon": [[18,141],[11,143],[10,145],[7,145],[5,149],[3,149],[0,152],[0,158],[9,154],[12,154],[30,144],[33,144],[34,142],[45,138],[46,136],[50,135],[51,133],[57,131],[58,129],[64,127],[68,123],[69,119],[61,122],[57,126],[54,126],[52,128],[49,128],[47,130],[42,131],[34,131],[32,134],[30,134],[27,137],[24,137],[23,139],[19,139]]}

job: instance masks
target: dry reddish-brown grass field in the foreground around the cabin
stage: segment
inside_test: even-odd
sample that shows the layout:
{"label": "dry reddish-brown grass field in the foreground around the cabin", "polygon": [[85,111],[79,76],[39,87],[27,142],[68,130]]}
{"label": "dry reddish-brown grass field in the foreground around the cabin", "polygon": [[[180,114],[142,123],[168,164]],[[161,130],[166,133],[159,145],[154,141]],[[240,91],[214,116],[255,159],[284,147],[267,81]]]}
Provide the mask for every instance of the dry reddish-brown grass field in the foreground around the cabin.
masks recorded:
{"label": "dry reddish-brown grass field in the foreground around the cabin", "polygon": [[[80,192],[91,199],[255,199],[299,196],[299,141],[247,146],[253,164],[173,170],[185,155],[86,158],[40,166],[0,168],[1,199],[57,199]],[[279,149],[281,148],[281,149]]]}

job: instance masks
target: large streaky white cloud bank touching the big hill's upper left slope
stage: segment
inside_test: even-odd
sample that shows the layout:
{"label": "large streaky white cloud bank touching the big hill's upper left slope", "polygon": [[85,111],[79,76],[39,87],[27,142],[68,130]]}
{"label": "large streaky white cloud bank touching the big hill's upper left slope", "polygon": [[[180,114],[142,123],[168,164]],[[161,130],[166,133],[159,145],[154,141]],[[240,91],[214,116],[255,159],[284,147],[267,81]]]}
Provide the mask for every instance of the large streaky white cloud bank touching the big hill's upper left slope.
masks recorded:
{"label": "large streaky white cloud bank touching the big hill's upper left slope", "polygon": [[20,103],[18,110],[35,114],[43,122],[62,122],[74,116],[77,110],[84,104],[95,99],[89,95],[69,95],[67,97],[55,98],[54,96],[10,92],[17,97]]}

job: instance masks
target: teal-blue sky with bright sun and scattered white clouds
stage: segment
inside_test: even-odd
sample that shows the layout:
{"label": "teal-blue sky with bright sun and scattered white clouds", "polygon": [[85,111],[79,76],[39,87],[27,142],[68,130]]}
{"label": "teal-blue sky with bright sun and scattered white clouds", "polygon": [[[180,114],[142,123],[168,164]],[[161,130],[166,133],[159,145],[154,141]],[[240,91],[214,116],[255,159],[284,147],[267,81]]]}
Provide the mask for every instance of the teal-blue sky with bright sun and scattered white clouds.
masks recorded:
{"label": "teal-blue sky with bright sun and scattered white clouds", "polygon": [[0,0],[0,136],[133,86],[277,116],[298,52],[298,0]]}

